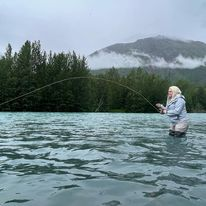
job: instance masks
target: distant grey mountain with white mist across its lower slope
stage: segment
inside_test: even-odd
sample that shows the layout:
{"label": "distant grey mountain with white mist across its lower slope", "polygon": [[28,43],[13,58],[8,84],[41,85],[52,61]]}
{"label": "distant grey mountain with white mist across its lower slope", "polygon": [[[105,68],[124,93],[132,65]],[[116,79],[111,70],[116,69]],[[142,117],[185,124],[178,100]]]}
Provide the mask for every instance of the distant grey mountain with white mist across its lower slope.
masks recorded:
{"label": "distant grey mountain with white mist across its lower slope", "polygon": [[119,43],[88,56],[91,69],[154,66],[196,68],[206,65],[206,44],[200,41],[156,36]]}

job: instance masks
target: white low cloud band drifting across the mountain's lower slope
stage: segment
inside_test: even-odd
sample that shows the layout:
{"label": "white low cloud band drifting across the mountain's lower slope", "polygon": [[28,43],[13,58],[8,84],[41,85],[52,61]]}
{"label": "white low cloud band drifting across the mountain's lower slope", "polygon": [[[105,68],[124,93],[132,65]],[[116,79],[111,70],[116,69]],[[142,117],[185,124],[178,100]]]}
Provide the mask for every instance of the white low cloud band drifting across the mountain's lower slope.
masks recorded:
{"label": "white low cloud band drifting across the mountain's lower slope", "polygon": [[[135,56],[133,56],[135,55]],[[88,57],[90,69],[111,68],[111,67],[140,67],[156,66],[161,68],[188,68],[193,69],[198,66],[206,65],[206,56],[204,58],[188,58],[181,54],[174,61],[167,62],[164,58],[151,57],[145,53],[136,53],[133,55],[122,55],[115,52],[99,52],[98,55]],[[146,58],[141,58],[146,57]]]}

